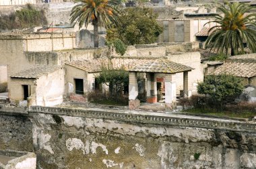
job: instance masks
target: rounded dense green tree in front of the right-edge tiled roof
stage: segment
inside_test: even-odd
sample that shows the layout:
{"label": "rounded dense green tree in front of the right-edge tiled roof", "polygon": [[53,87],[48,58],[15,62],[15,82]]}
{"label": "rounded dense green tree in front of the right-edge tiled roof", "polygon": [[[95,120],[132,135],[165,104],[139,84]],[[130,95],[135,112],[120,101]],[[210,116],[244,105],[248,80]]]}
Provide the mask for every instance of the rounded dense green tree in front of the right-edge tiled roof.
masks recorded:
{"label": "rounded dense green tree in front of the right-edge tiled roof", "polygon": [[199,94],[209,95],[216,107],[222,106],[233,101],[243,91],[242,79],[236,76],[221,74],[219,76],[205,76],[203,82],[197,86]]}

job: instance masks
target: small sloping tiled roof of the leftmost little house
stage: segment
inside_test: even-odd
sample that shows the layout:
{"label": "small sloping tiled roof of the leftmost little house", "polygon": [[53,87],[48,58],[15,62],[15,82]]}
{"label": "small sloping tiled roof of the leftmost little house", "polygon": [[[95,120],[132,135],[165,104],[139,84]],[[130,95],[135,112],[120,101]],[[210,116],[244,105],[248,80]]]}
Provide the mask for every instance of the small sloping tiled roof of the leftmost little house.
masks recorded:
{"label": "small sloping tiled roof of the leftmost little house", "polygon": [[11,75],[12,78],[38,78],[42,75],[49,74],[55,70],[61,68],[61,66],[49,66],[49,65],[33,65],[26,70],[22,70],[16,74]]}

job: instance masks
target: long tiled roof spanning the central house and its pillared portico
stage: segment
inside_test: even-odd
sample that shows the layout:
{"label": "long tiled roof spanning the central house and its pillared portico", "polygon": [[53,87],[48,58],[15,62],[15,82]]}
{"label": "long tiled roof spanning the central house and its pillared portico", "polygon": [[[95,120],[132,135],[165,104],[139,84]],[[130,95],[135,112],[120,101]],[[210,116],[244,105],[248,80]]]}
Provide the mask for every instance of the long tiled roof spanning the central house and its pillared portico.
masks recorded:
{"label": "long tiled roof spanning the central house and its pillared portico", "polygon": [[109,59],[93,59],[93,60],[74,60],[65,64],[85,70],[87,72],[100,72],[102,65],[108,66],[113,64],[113,68],[121,68],[135,72],[166,72],[175,73],[192,70],[193,68],[170,62],[167,59],[139,59],[139,58],[113,58]]}

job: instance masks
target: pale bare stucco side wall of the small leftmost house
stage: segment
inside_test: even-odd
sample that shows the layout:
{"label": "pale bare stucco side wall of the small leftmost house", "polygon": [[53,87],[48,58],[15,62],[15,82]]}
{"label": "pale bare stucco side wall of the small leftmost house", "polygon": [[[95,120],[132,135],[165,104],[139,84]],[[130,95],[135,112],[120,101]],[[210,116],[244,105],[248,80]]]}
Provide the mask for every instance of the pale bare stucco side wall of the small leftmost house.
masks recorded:
{"label": "pale bare stucco side wall of the small leftmost house", "polygon": [[40,76],[40,78],[36,80],[36,84],[36,105],[54,106],[63,102],[65,91],[64,68]]}

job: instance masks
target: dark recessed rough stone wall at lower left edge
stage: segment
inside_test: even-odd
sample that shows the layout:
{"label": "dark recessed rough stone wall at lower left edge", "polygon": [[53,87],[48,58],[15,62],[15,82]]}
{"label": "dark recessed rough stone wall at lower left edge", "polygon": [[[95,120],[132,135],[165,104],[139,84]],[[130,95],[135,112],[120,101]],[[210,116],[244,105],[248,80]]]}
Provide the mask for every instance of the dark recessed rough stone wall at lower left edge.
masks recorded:
{"label": "dark recessed rough stone wall at lower left edge", "polygon": [[32,122],[27,115],[0,114],[0,149],[33,152]]}

